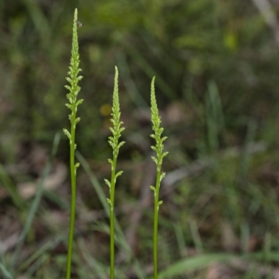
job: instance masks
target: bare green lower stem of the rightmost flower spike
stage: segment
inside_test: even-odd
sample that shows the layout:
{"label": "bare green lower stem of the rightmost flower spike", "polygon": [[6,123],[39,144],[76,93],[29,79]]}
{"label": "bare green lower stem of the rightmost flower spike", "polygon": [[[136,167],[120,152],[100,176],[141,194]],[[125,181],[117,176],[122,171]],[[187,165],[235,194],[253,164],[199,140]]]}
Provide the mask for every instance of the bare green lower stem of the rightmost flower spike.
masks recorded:
{"label": "bare green lower stem of the rightmost flower spike", "polygon": [[154,224],[153,224],[153,279],[158,278],[158,215],[159,215],[159,189],[161,165],[158,166],[156,175],[156,194],[154,195]]}

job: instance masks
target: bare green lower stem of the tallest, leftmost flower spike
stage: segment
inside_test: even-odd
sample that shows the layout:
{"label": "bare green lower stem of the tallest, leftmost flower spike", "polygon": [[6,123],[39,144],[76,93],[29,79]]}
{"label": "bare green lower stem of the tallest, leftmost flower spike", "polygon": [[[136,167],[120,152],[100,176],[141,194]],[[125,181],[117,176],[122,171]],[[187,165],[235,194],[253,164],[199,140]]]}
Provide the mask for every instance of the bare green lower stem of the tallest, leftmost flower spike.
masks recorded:
{"label": "bare green lower stem of the tallest, leftmost flower spike", "polygon": [[70,125],[70,181],[71,181],[71,200],[70,200],[70,230],[68,239],[68,258],[66,279],[70,279],[70,269],[72,266],[73,238],[75,229],[75,197],[76,197],[76,170],[75,170],[75,109],[71,115]]}

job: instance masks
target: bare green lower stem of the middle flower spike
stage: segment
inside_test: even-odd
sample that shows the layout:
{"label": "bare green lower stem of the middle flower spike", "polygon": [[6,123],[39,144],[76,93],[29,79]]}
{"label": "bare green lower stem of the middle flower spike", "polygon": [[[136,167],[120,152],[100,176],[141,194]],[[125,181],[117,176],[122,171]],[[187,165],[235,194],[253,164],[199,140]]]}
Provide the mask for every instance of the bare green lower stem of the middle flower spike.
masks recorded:
{"label": "bare green lower stem of the middle flower spike", "polygon": [[114,279],[114,189],[115,189],[115,169],[116,169],[116,157],[113,159],[113,169],[111,188],[110,188],[110,279]]}

